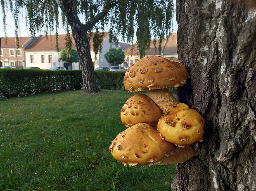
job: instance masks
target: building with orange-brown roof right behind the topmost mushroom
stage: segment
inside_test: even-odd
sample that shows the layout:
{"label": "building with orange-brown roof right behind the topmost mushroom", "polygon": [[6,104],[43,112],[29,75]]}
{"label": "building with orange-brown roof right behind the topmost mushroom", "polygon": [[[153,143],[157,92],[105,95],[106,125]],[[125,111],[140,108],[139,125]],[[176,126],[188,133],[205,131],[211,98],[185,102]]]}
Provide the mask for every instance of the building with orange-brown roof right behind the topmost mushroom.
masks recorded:
{"label": "building with orange-brown roof right behind the topmost mushroom", "polygon": [[[166,39],[161,43],[161,51],[159,53],[159,40],[151,40],[150,48],[146,51],[146,56],[149,55],[161,55],[166,57],[178,58],[177,53],[177,33],[170,33]],[[140,52],[137,48],[137,43],[130,46],[124,51],[125,62],[123,63],[124,68],[128,68],[140,59]]]}

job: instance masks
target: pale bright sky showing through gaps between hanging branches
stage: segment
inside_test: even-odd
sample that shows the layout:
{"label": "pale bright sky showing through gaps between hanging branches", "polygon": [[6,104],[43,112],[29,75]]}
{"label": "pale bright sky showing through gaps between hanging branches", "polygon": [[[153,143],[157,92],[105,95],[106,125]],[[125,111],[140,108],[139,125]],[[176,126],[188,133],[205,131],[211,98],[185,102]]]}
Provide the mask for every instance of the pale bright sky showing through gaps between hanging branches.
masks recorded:
{"label": "pale bright sky showing through gaps between hanging branches", "polygon": [[[174,0],[174,5],[176,4],[176,0]],[[174,10],[176,9],[176,6],[174,7]],[[2,14],[2,9],[0,11],[0,37],[4,37],[4,31],[2,30],[2,19],[3,19],[3,14]],[[7,37],[14,37],[15,33],[14,33],[14,19],[12,19],[12,14],[11,12],[7,12],[6,13],[6,23],[8,26],[6,26],[7,28]],[[59,29],[58,29],[58,34],[66,34],[66,29],[62,28],[62,21],[59,21]],[[173,17],[173,30],[172,32],[177,32],[178,30],[178,24],[176,22],[176,14],[174,14]],[[55,31],[53,32],[53,34],[55,34]],[[28,37],[30,36],[29,33],[29,29],[28,26],[26,26],[26,21],[25,21],[25,11],[20,12],[19,14],[19,30],[18,30],[18,35],[19,37]],[[38,35],[44,35],[44,32],[42,31],[41,33],[36,33],[36,36]],[[122,40],[120,40],[122,41]]]}

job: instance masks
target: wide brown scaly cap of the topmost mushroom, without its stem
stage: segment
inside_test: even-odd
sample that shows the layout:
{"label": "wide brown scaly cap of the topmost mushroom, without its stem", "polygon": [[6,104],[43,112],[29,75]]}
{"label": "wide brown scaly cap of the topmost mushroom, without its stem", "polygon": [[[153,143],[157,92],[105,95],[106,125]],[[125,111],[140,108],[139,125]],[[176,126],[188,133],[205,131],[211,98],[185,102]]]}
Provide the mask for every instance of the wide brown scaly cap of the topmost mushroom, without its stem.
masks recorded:
{"label": "wide brown scaly cap of the topmost mushroom, without its stem", "polygon": [[128,92],[148,88],[161,89],[168,86],[183,86],[187,81],[187,70],[179,62],[162,56],[146,56],[131,65],[123,79]]}

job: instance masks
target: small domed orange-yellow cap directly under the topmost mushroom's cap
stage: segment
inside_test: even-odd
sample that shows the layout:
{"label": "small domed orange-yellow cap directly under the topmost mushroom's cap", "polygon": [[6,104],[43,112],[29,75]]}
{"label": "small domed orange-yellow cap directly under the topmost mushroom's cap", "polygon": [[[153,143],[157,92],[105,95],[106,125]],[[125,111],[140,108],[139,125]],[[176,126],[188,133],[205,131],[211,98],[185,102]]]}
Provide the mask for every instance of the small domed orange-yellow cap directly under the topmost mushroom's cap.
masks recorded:
{"label": "small domed orange-yellow cap directly under the topmost mushroom's cap", "polygon": [[137,123],[154,125],[163,115],[156,103],[145,94],[135,94],[130,97],[121,109],[121,121],[127,127]]}

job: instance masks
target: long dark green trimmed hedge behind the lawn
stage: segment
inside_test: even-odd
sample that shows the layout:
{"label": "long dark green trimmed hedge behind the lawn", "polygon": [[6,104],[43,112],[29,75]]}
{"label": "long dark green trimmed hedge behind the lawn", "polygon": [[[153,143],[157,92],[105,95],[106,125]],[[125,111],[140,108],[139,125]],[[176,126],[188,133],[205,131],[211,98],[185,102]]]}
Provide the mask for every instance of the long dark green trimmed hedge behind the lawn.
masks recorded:
{"label": "long dark green trimmed hedge behind the lawn", "polygon": [[[125,72],[97,71],[100,89],[124,89]],[[0,69],[0,97],[15,97],[63,89],[81,89],[81,70]]]}

